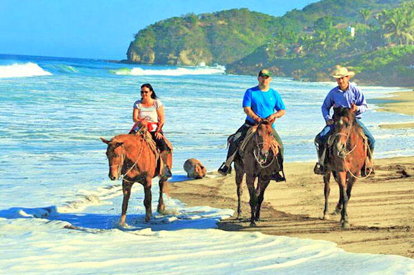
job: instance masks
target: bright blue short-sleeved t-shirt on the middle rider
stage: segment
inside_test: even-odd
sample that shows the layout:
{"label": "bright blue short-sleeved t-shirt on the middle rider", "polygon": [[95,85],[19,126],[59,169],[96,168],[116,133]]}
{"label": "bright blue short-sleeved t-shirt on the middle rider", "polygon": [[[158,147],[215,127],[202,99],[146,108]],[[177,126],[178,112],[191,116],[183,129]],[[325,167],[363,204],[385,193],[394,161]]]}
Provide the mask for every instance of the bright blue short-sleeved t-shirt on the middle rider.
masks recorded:
{"label": "bright blue short-sleeved t-shirt on the middle rider", "polygon": [[[243,107],[250,107],[262,119],[266,119],[270,114],[274,114],[275,110],[285,110],[282,97],[280,97],[278,92],[272,88],[269,88],[267,92],[263,92],[259,89],[259,86],[246,90],[243,98]],[[250,116],[247,116],[246,119],[255,123]]]}

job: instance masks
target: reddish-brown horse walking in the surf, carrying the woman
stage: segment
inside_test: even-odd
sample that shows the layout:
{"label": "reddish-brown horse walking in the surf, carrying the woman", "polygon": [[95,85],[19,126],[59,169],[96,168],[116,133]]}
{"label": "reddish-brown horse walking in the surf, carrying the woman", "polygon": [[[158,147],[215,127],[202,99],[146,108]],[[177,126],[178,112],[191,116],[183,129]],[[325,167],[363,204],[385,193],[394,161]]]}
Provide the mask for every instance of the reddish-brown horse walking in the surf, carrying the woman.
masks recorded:
{"label": "reddish-brown horse walking in the surf, carrying the woman", "polygon": [[[150,221],[152,215],[151,207],[151,185],[152,178],[160,176],[157,172],[157,157],[148,144],[147,139],[150,137],[145,134],[119,134],[114,136],[110,141],[101,140],[108,144],[106,156],[109,161],[109,178],[116,181],[122,176],[122,190],[124,192],[124,201],[122,201],[121,225],[125,225],[126,210],[131,194],[132,184],[141,183],[144,186],[145,198],[144,206],[146,210],[145,221]],[[168,157],[167,165],[172,165],[172,154]],[[158,169],[161,170],[161,169]],[[159,200],[157,211],[165,209],[162,193],[167,186],[166,177],[159,179]]]}

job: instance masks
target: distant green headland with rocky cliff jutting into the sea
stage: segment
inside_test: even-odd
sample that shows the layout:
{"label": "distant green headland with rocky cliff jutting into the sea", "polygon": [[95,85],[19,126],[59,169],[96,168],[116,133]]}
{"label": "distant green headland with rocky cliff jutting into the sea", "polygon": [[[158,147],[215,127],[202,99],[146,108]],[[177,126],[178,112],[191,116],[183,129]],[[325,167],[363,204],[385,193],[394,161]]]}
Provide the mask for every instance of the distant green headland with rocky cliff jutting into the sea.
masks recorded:
{"label": "distant green headland with rocky cliff jutting into the sea", "polygon": [[[134,63],[221,65],[245,57],[286,23],[246,8],[186,14],[154,23],[135,34],[127,57]],[[288,28],[297,28],[288,26]]]}

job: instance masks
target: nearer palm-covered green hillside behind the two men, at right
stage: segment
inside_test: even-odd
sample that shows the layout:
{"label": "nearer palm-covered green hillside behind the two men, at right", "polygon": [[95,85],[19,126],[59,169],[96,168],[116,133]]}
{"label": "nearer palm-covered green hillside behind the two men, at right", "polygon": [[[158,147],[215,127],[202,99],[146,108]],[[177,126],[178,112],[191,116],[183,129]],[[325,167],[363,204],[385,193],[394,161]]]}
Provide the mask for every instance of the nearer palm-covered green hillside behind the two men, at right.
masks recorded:
{"label": "nearer palm-covered green hillside behind the two men, at right", "polygon": [[[355,70],[355,79],[363,83],[414,85],[414,1],[388,10],[364,8],[355,16],[353,23],[330,14],[320,17],[312,32],[291,35],[288,43],[275,36],[226,65],[227,72],[255,74],[268,67],[279,76],[326,81],[340,64]],[[355,28],[355,37],[347,26]]]}

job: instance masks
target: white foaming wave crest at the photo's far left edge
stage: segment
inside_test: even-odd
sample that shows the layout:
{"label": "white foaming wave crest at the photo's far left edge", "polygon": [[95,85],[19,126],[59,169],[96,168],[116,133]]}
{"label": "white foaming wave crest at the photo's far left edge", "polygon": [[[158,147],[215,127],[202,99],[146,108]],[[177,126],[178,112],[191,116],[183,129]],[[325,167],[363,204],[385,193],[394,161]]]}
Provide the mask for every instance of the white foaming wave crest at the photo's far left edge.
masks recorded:
{"label": "white foaming wave crest at the photo's far left edge", "polygon": [[52,74],[32,62],[24,64],[14,63],[12,65],[0,65],[0,79],[9,77],[38,77],[43,75]]}

